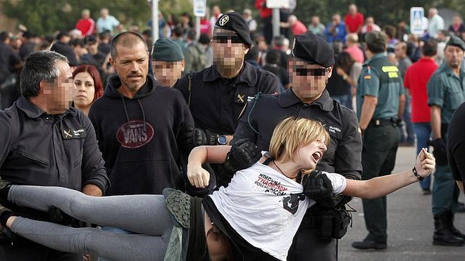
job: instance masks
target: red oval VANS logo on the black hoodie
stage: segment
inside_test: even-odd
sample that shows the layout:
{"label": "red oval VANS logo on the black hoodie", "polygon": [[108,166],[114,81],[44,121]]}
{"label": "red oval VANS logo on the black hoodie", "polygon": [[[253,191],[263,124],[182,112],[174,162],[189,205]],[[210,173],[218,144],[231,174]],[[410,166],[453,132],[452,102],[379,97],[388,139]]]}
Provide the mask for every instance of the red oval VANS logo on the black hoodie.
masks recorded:
{"label": "red oval VANS logo on the black hoodie", "polygon": [[116,132],[116,139],[125,148],[142,147],[149,143],[153,137],[154,127],[151,127],[147,122],[142,122],[142,120],[126,122]]}

